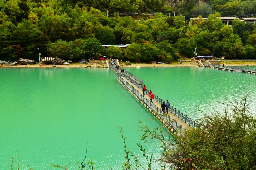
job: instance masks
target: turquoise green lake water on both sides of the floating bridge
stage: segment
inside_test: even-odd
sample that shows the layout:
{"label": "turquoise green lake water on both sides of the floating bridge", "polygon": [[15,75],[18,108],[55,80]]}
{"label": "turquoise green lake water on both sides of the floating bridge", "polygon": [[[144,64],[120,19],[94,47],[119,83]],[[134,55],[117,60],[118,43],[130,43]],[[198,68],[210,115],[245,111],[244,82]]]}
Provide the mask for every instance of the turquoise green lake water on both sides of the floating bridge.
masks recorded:
{"label": "turquoise green lake water on both sides of the floating bridge", "polygon": [[[180,112],[197,118],[200,109],[222,109],[224,97],[233,99],[250,88],[256,99],[256,75],[201,67],[126,68],[144,80],[147,89],[175,103]],[[110,69],[2,68],[0,69],[0,169],[9,169],[12,156],[17,169],[52,169],[87,159],[95,167],[121,169],[123,140],[141,154],[140,123],[159,127],[152,115],[117,81]],[[255,103],[253,103],[255,107]],[[160,153],[157,141],[143,144],[148,154]],[[144,159],[142,159],[144,160]],[[145,160],[142,161],[145,163]],[[154,163],[154,169],[160,169]]]}

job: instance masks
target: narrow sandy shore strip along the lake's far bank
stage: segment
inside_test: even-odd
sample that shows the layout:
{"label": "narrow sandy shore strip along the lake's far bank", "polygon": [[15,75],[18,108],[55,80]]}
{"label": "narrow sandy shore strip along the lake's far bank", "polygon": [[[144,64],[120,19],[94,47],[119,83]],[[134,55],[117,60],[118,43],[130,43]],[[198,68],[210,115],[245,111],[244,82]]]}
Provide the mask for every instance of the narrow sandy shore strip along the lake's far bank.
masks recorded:
{"label": "narrow sandy shore strip along the lake's far bank", "polygon": [[[81,67],[94,67],[90,64],[79,64],[79,63],[71,63],[69,65],[58,65],[58,66],[53,66],[53,65],[17,65],[17,66],[10,66],[10,65],[4,65],[0,64],[0,67],[45,67],[45,68],[50,68],[50,67],[55,67],[55,68],[81,68]],[[144,64],[144,63],[139,63],[139,64],[132,64],[132,65],[121,65],[121,67],[199,67],[197,65],[190,64],[190,62],[183,62],[182,64],[177,63],[172,63],[172,64]],[[256,63],[248,63],[248,64],[225,64],[225,66],[256,66]]]}

